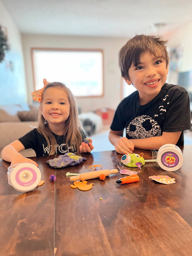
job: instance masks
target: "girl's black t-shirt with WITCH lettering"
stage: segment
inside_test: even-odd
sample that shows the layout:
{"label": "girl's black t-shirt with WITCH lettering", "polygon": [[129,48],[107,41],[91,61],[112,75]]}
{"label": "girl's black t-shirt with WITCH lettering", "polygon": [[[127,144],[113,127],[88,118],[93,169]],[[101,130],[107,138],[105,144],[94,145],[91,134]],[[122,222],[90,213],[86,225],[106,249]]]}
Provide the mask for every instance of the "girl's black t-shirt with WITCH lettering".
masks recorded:
{"label": "girl's black t-shirt with WITCH lettering", "polygon": [[[80,129],[82,138],[85,139],[86,136],[84,132]],[[56,153],[55,154],[62,154],[71,152],[76,153],[77,148],[75,145],[70,146],[65,144],[64,135],[57,135],[53,133],[53,136],[55,137],[57,141],[56,147]],[[51,147],[47,146],[47,141],[43,134],[40,134],[37,129],[33,129],[32,131],[25,134],[23,137],[19,139],[19,141],[23,144],[25,149],[32,148],[36,152],[36,156],[48,156],[49,152],[51,151]]]}

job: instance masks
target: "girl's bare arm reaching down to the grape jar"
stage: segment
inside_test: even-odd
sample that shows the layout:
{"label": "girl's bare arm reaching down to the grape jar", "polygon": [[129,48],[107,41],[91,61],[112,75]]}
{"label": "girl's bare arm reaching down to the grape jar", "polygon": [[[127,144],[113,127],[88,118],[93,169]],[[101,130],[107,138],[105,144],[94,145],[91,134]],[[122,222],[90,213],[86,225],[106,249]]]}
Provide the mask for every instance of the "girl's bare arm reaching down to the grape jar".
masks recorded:
{"label": "girl's bare arm reaching down to the grape jar", "polygon": [[28,162],[34,163],[38,167],[38,164],[35,161],[26,158],[19,153],[23,149],[25,149],[23,144],[19,140],[15,140],[2,150],[2,158],[7,162],[11,162],[11,165]]}

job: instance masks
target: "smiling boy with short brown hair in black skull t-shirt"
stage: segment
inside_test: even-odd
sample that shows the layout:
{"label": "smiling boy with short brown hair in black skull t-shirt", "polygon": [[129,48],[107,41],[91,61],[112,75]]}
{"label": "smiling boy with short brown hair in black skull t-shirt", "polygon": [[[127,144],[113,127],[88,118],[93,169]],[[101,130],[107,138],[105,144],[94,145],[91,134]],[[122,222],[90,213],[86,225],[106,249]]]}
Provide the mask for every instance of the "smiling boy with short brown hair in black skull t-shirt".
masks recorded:
{"label": "smiling boy with short brown hair in black skull t-shirt", "polygon": [[109,140],[119,154],[132,153],[134,148],[159,149],[168,143],[183,145],[183,131],[191,128],[188,92],[165,83],[169,68],[166,43],[155,36],[139,35],[119,52],[121,75],[137,89],[120,102],[110,127]]}

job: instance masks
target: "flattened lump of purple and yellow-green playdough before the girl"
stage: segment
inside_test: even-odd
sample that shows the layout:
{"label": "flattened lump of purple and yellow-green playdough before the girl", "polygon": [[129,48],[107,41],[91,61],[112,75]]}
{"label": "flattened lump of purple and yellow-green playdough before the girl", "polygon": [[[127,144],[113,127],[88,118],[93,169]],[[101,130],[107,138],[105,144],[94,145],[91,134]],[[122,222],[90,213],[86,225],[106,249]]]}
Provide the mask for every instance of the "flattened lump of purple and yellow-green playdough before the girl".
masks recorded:
{"label": "flattened lump of purple and yellow-green playdough before the girl", "polygon": [[60,155],[57,158],[48,160],[47,164],[49,164],[52,168],[66,168],[81,164],[82,161],[86,160],[87,158],[76,156],[74,153],[66,153],[65,155]]}

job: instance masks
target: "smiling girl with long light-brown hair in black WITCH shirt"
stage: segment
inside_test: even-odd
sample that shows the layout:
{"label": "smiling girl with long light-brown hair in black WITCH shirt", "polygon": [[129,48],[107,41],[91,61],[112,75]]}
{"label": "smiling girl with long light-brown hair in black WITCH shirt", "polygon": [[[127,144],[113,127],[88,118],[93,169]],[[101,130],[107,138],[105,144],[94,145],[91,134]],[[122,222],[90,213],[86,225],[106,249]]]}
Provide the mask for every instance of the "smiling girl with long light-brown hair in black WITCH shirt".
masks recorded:
{"label": "smiling girl with long light-brown hair in black WITCH shirt", "polygon": [[53,82],[44,87],[39,106],[38,128],[28,132],[2,150],[2,158],[12,164],[32,162],[19,152],[33,148],[36,156],[65,154],[67,152],[89,153],[93,149],[82,142],[86,138],[78,119],[76,100],[62,83]]}

